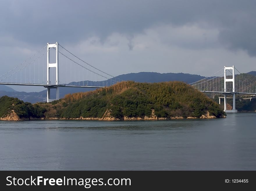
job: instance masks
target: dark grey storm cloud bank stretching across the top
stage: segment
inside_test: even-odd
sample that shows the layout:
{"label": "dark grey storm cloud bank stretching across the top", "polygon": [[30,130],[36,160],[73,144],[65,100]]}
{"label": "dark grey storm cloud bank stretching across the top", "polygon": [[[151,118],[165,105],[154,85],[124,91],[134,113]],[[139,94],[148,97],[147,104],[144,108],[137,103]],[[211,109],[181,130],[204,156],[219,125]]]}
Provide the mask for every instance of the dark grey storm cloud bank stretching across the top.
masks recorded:
{"label": "dark grey storm cloud bank stretching across the top", "polygon": [[255,10],[250,0],[1,1],[0,35],[29,44],[76,43],[93,35],[104,41],[114,32],[130,36],[158,24],[206,24],[220,31],[225,47],[255,56]]}

